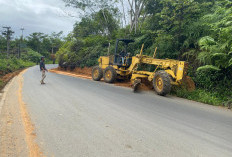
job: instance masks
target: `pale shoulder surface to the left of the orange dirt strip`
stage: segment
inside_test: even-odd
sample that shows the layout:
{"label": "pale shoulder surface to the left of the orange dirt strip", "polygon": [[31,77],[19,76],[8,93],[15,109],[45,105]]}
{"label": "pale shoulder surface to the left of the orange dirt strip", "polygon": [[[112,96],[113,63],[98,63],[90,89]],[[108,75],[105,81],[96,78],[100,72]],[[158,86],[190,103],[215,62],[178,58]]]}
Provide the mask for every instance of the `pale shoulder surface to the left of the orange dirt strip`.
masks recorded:
{"label": "pale shoulder surface to the left of the orange dirt strip", "polygon": [[28,156],[24,126],[18,103],[18,79],[16,76],[4,88],[0,106],[0,154]]}

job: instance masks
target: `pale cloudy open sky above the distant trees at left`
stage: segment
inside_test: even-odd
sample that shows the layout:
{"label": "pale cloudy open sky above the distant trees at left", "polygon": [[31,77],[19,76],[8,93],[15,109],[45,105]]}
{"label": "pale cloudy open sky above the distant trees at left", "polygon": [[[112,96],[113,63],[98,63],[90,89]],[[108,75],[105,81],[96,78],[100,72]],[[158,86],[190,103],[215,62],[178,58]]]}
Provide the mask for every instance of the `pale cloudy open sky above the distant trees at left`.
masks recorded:
{"label": "pale cloudy open sky above the distant trees at left", "polygon": [[[75,17],[68,16],[75,15]],[[33,32],[50,34],[63,31],[67,35],[72,31],[78,15],[74,9],[66,8],[62,0],[0,0],[0,31],[10,26],[14,37]]]}

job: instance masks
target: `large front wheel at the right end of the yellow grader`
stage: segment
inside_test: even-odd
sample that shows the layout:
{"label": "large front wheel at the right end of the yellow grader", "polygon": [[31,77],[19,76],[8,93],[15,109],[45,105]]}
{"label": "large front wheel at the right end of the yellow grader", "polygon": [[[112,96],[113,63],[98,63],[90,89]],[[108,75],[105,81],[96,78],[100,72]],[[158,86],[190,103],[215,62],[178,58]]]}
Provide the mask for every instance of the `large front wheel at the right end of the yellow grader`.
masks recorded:
{"label": "large front wheel at the right end of the yellow grader", "polygon": [[165,96],[171,91],[171,81],[169,75],[161,70],[155,73],[153,87],[158,95]]}

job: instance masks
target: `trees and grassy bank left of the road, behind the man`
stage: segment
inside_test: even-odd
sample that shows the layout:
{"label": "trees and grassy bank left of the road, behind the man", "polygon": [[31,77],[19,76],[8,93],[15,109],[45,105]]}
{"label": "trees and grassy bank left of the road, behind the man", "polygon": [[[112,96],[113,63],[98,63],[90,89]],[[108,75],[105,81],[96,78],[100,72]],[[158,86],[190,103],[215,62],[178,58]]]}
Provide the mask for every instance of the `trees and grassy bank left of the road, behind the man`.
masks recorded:
{"label": "trees and grassy bank left of the road, behind the man", "polygon": [[6,31],[0,35],[0,89],[9,80],[2,79],[4,75],[38,64],[41,56],[46,57],[46,63],[55,63],[55,53],[63,42],[62,32],[50,35],[35,32],[25,39],[18,39],[13,38],[13,31],[10,31],[8,53]]}

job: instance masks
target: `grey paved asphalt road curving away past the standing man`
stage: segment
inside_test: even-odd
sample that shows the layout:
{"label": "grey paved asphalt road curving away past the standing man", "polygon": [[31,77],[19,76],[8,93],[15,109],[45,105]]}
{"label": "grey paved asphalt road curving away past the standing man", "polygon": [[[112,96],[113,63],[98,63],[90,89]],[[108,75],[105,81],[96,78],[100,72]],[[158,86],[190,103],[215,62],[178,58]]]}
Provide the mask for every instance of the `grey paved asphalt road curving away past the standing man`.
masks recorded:
{"label": "grey paved asphalt road curving away past the standing man", "polygon": [[23,99],[46,156],[232,156],[231,111],[54,73],[40,85],[40,75],[23,75]]}

